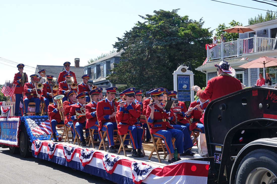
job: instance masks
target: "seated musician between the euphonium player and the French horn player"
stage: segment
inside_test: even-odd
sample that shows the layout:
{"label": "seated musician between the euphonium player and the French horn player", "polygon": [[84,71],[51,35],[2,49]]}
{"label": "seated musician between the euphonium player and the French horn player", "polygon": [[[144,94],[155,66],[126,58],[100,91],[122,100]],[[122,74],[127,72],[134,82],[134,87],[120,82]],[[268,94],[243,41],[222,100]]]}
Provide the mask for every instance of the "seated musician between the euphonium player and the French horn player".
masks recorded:
{"label": "seated musician between the euphonium player and the French horn player", "polygon": [[65,120],[64,123],[67,127],[70,127],[71,133],[73,135],[73,140],[75,138],[75,131],[74,131],[74,124],[71,119],[69,119],[69,111],[71,109],[71,105],[76,104],[76,95],[77,91],[72,90],[67,93],[67,99],[66,101],[63,102],[63,109],[65,110]]}

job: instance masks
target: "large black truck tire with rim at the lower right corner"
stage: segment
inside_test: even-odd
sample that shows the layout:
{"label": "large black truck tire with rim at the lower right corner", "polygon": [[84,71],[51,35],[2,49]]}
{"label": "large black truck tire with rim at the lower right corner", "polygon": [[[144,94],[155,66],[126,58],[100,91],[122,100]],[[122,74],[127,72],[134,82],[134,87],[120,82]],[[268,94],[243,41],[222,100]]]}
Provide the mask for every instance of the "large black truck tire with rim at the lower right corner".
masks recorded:
{"label": "large black truck tire with rim at the lower right corner", "polygon": [[272,149],[256,149],[248,153],[238,166],[236,183],[275,183],[277,154]]}

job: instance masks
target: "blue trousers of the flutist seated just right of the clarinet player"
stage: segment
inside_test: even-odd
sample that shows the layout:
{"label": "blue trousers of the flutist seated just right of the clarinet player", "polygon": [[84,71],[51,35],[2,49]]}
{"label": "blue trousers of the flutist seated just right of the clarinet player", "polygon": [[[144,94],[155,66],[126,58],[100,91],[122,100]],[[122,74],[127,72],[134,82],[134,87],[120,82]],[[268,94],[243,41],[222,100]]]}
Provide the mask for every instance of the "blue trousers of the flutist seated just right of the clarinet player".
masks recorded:
{"label": "blue trousers of the flutist seated just right of the clarinet player", "polygon": [[[142,129],[139,126],[129,126],[127,132],[130,135],[133,149],[141,149],[144,129]],[[125,144],[125,141],[124,141],[124,144]]]}

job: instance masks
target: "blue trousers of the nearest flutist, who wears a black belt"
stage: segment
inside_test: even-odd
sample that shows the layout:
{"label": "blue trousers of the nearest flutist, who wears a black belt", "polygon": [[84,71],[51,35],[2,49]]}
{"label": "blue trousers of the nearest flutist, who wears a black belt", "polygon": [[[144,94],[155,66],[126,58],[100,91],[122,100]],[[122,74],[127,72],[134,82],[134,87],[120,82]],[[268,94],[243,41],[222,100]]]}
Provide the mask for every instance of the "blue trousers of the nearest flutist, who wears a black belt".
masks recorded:
{"label": "blue trousers of the nearest flutist, who wears a black belt", "polygon": [[163,138],[168,154],[174,153],[172,138],[175,138],[175,147],[177,148],[178,153],[184,153],[184,134],[181,130],[166,128],[166,130],[158,130],[153,133],[153,135]]}

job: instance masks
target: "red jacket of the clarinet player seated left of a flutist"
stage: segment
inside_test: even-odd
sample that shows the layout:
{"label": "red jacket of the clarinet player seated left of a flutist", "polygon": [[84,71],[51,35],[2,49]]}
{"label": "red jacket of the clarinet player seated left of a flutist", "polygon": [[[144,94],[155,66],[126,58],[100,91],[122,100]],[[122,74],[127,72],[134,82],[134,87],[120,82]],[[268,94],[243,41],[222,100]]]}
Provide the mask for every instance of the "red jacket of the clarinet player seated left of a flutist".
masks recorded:
{"label": "red jacket of the clarinet player seated left of a flutist", "polygon": [[[116,101],[114,101],[114,104],[116,107],[119,105],[119,103]],[[97,112],[97,117],[99,121],[99,127],[98,127],[99,131],[102,128],[102,124],[104,124],[105,122],[116,122],[115,117],[112,117],[111,119],[109,119],[109,116],[115,111],[114,111],[114,105],[112,104],[111,106],[107,98],[97,103],[96,112]]]}

